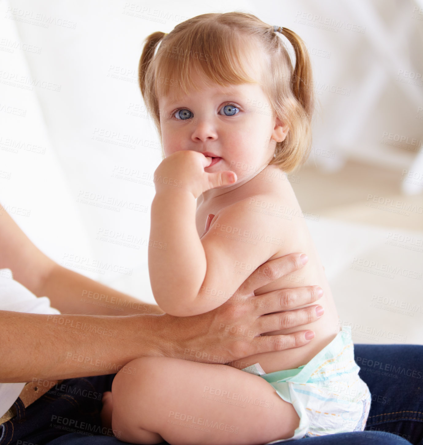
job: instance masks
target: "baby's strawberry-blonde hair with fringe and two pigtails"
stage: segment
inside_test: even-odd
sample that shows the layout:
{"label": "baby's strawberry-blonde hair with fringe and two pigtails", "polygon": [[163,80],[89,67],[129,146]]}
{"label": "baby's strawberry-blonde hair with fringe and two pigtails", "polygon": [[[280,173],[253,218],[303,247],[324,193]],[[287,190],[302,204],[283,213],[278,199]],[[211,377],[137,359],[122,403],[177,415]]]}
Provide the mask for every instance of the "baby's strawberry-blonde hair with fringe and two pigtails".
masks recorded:
{"label": "baby's strawberry-blonde hair with fringe and two pigtails", "polygon": [[[206,83],[260,83],[273,116],[289,128],[285,140],[277,142],[270,164],[290,172],[304,162],[311,148],[314,111],[310,57],[295,32],[283,28],[282,34],[294,48],[294,68],[273,26],[246,12],[201,14],[178,24],[169,34],[150,34],[139,62],[139,85],[161,145],[158,97],[165,97],[171,89],[175,94],[198,90],[190,81],[195,70]],[[260,49],[263,56],[260,82],[250,76],[257,64],[251,59],[250,45]]]}

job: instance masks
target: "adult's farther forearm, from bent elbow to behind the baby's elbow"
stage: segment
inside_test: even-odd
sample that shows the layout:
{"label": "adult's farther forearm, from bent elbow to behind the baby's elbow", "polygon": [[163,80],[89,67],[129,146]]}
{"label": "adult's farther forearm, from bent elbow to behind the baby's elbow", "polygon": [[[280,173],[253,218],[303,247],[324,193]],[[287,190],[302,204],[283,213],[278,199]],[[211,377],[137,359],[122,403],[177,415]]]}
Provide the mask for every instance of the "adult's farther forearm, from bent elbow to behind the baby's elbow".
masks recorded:
{"label": "adult's farther forearm, from bent elbow to behind the baby's elbow", "polygon": [[120,316],[163,313],[155,304],[144,303],[58,264],[51,268],[36,295],[48,296],[52,307],[62,314]]}

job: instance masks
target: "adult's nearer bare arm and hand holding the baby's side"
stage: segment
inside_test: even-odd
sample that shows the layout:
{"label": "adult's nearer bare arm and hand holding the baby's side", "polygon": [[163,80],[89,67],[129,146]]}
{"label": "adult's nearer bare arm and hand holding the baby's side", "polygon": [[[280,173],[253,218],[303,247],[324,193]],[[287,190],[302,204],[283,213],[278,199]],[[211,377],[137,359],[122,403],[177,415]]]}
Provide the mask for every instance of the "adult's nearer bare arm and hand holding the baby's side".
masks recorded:
{"label": "adult's nearer bare arm and hand holding the baby's side", "polygon": [[[0,311],[0,382],[110,374],[141,356],[229,363],[259,352],[307,344],[310,340],[305,334],[309,330],[278,336],[261,334],[317,320],[317,305],[294,307],[320,298],[318,286],[254,295],[264,283],[301,268],[300,256],[290,254],[263,264],[222,306],[192,317]],[[124,372],[136,370],[124,368]]]}

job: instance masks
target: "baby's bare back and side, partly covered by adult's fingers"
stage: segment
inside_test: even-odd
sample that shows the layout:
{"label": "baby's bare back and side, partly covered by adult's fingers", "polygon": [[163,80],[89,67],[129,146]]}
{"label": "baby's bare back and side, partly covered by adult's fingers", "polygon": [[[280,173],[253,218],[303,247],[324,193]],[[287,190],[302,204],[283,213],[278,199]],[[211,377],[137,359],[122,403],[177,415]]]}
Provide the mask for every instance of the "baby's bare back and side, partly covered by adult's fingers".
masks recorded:
{"label": "baby's bare back and side, partly covered by adult's fingers", "polygon": [[[335,338],[340,330],[338,313],[329,283],[306,226],[305,215],[301,211],[286,175],[276,166],[267,166],[241,189],[242,191],[238,191],[236,199],[249,199],[249,210],[263,214],[263,233],[265,236],[271,235],[267,241],[275,245],[275,254],[269,259],[294,252],[304,252],[308,256],[308,262],[301,270],[260,287],[255,291],[255,295],[262,295],[280,288],[318,285],[323,289],[323,296],[318,300],[318,304],[324,307],[325,312],[317,321],[301,326],[301,329],[311,329],[315,332],[314,339],[307,345],[301,348],[248,356],[233,362],[231,366],[245,368],[251,364],[260,363],[266,373],[298,368],[298,366],[308,363]],[[228,199],[231,198],[228,196]],[[230,203],[228,202],[228,205]],[[223,203],[221,205],[224,206]],[[216,209],[203,209],[204,214],[207,214],[207,211],[216,213]],[[201,218],[204,221],[203,215]],[[252,246],[252,248],[259,248],[259,246]],[[298,327],[269,332],[269,335],[289,334],[295,331],[298,331]]]}

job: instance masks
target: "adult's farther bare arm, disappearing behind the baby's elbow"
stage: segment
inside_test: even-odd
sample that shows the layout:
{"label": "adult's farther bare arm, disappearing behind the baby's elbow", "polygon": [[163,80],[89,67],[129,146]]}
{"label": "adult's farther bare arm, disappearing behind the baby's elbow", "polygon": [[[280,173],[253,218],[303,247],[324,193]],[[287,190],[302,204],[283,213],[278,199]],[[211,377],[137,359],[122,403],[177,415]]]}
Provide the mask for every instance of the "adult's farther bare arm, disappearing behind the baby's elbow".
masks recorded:
{"label": "adult's farther bare arm, disappearing behind the baby's elbow", "polygon": [[61,267],[44,255],[0,205],[0,269],[34,295],[48,296],[52,307],[66,314],[129,315],[162,314],[144,303],[97,281]]}

